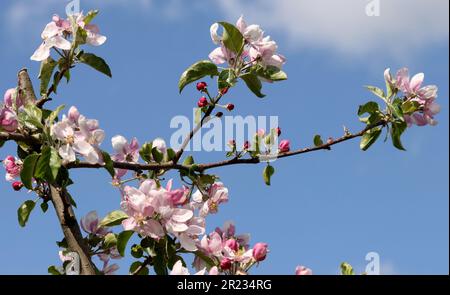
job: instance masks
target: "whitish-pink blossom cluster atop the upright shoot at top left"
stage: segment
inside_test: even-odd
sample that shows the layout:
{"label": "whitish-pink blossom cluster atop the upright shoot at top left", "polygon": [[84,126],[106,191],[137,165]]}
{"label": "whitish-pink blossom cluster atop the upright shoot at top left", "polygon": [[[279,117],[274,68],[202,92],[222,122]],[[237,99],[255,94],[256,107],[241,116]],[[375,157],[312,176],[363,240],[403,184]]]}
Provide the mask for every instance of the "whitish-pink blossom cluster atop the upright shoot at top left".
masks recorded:
{"label": "whitish-pink blossom cluster atop the upright shoot at top left", "polygon": [[84,16],[83,13],[70,15],[67,19],[62,19],[54,15],[52,21],[48,23],[41,34],[43,40],[39,48],[31,56],[32,60],[43,61],[50,56],[52,48],[70,50],[72,48],[71,38],[81,31],[85,34],[85,42],[89,45],[100,46],[106,41],[106,37],[100,35],[96,25],[90,24],[91,16]]}

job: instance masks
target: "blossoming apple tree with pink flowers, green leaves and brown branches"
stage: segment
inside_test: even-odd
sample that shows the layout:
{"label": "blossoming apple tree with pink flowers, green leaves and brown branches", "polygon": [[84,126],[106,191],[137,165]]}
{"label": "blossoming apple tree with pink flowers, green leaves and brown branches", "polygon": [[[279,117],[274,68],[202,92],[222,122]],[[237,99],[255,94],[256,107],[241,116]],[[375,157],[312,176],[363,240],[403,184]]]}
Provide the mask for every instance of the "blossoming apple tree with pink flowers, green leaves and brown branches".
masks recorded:
{"label": "blossoming apple tree with pink flowers, green leaves and brown branches", "polygon": [[[241,17],[235,25],[213,24],[210,34],[217,48],[209,54],[209,60],[194,63],[181,75],[180,93],[194,82],[201,93],[197,126],[186,135],[181,148],[174,150],[159,138],[140,145],[136,138],[117,135],[111,139],[112,152],[108,152],[100,148],[105,132],[97,120],[86,118],[74,106],[67,110],[63,104],[48,107],[60,82],[69,82],[80,64],[111,77],[107,63],[85,51],[88,45],[100,46],[106,41],[92,24],[96,16],[97,11],[69,15],[67,19],[53,16],[42,32],[42,44],[31,56],[40,62],[37,93],[27,70],[20,70],[18,85],[6,91],[0,107],[0,147],[6,141],[17,144],[17,155],[3,160],[6,180],[14,190],[26,189],[37,196],[18,208],[20,226],[26,225],[36,205],[44,213],[52,206],[61,225],[63,237],[58,246],[65,267],[49,267],[52,274],[69,273],[67,266],[75,260],[81,274],[111,274],[118,268],[111,260],[126,253],[135,259],[130,274],[148,274],[149,269],[161,275],[189,274],[185,262],[189,254],[197,274],[247,274],[265,259],[268,245],[251,244],[249,236],[238,234],[233,223],[205,232],[207,217],[217,213],[229,197],[226,186],[210,172],[213,168],[261,163],[263,180],[270,185],[275,173],[273,158],[329,150],[354,138],[361,138],[360,148],[365,151],[384,130],[386,138],[403,150],[401,136],[407,127],[436,124],[437,87],[422,86],[423,74],[409,78],[403,68],[394,76],[387,69],[386,90],[367,87],[380,100],[359,106],[357,114],[364,127],[358,132],[345,129],[340,137],[327,140],[316,135],[311,147],[293,149],[289,140],[278,142],[280,128],[259,130],[243,147],[230,139],[231,151],[225,159],[195,162],[184,149],[205,122],[223,115],[220,109],[234,109],[232,104],[219,104],[233,87],[243,82],[254,95],[263,97],[263,82],[287,79],[282,71],[286,59],[277,53],[276,42],[258,25],[247,25]],[[201,81],[206,78],[208,82]],[[92,211],[78,221],[76,196],[70,194],[70,172],[91,168],[104,168],[111,175],[121,195],[122,201],[117,204],[120,210],[102,218]],[[180,187],[173,180],[163,180],[168,171],[179,173]],[[132,236],[138,237],[139,243],[127,245]],[[103,265],[95,265],[94,256]],[[352,273],[351,267],[344,264],[343,272]],[[311,270],[297,266],[295,273],[311,274]]]}

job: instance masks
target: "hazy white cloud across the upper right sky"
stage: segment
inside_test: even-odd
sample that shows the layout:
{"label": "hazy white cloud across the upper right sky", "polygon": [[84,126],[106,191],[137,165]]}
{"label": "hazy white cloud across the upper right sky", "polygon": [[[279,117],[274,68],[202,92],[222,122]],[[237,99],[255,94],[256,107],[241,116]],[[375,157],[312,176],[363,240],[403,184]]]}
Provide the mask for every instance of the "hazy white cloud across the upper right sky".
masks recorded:
{"label": "hazy white cloud across the upper right sky", "polygon": [[[325,48],[355,56],[383,51],[394,56],[448,40],[449,1],[375,0],[380,15],[369,17],[370,0],[217,0],[229,18],[244,14],[289,45]],[[275,31],[274,31],[275,30]]]}

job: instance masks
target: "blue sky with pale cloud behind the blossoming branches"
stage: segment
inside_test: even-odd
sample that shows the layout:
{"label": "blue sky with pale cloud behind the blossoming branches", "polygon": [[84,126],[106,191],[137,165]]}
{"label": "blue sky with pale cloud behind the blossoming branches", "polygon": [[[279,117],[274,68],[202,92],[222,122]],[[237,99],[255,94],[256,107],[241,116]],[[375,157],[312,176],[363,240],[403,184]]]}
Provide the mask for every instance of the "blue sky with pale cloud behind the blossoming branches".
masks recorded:
{"label": "blue sky with pale cloud behind the blossoming branches", "polygon": [[[230,201],[208,219],[208,228],[234,220],[253,243],[267,242],[270,255],[255,274],[292,274],[298,264],[316,274],[336,274],[342,261],[362,272],[370,251],[380,254],[382,273],[448,274],[448,1],[381,0],[378,17],[365,14],[369,1],[336,2],[81,1],[85,11],[101,9],[96,23],[108,41],[87,50],[108,61],[113,79],[78,66],[51,106],[76,105],[100,121],[107,138],[168,141],[170,119],[189,116],[199,96],[193,87],[178,94],[179,75],[214,48],[213,22],[235,22],[241,14],[278,42],[289,80],[264,85],[263,100],[239,85],[227,102],[236,105],[235,114],[278,116],[283,138],[293,147],[311,145],[317,133],[338,136],[342,125],[362,128],[357,107],[376,99],[362,86],[383,86],[386,67],[424,72],[426,84],[439,86],[440,123],[409,129],[403,138],[407,152],[382,141],[362,152],[358,141],[347,142],[331,152],[277,161],[270,187],[262,181],[262,165],[214,170],[229,187]],[[39,65],[29,57],[65,3],[2,1],[0,89],[14,87],[22,67],[37,76]],[[111,150],[109,139],[102,147]],[[12,152],[7,144],[0,156]],[[224,155],[194,157],[206,162]],[[119,207],[120,196],[104,171],[72,176],[78,216],[90,210],[103,216]],[[17,223],[18,206],[33,198],[0,183],[1,274],[45,274],[59,263],[55,241],[62,233],[52,210],[35,210],[26,228]],[[119,262],[120,273],[129,262]]]}

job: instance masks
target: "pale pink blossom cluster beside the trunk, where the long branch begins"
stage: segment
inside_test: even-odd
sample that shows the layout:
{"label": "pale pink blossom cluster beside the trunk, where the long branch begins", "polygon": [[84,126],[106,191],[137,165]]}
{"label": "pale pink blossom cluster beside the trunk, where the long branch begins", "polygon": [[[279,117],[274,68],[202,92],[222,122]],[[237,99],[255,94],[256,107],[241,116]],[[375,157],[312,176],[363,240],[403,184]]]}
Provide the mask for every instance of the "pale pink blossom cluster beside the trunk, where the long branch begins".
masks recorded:
{"label": "pale pink blossom cluster beside the trunk, where the long branch begins", "polygon": [[52,125],[51,136],[59,142],[59,155],[63,163],[74,162],[76,155],[83,156],[91,164],[102,163],[99,145],[105,132],[99,128],[98,121],[80,115],[76,107],[71,107],[61,121]]}

